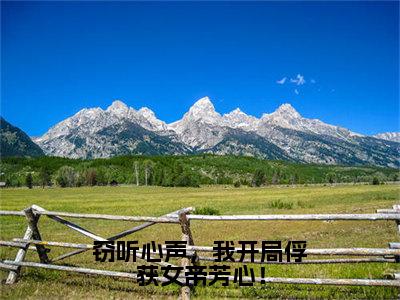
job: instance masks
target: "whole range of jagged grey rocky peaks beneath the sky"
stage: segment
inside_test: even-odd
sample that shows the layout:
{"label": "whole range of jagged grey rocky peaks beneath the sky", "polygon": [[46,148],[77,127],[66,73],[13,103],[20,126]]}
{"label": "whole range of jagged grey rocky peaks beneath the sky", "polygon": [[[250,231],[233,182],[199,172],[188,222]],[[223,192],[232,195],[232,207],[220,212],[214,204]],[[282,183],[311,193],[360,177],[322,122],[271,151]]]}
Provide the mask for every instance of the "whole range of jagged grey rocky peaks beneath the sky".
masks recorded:
{"label": "whole range of jagged grey rocky peaks beneath the sky", "polygon": [[234,154],[304,163],[399,167],[398,133],[365,136],[302,117],[290,104],[256,118],[239,108],[218,113],[204,97],[167,124],[149,108],[122,101],[85,108],[34,141],[47,155],[105,158],[124,154]]}

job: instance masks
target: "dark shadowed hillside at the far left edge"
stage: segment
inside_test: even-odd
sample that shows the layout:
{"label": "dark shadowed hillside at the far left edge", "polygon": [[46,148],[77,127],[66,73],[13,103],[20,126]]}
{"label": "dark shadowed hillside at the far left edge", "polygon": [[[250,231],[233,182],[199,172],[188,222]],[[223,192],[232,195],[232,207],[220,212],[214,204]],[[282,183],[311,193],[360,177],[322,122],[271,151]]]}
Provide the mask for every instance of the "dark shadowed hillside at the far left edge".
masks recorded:
{"label": "dark shadowed hillside at the far left edge", "polygon": [[0,117],[0,156],[42,156],[43,150],[21,129]]}

